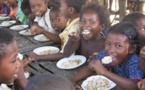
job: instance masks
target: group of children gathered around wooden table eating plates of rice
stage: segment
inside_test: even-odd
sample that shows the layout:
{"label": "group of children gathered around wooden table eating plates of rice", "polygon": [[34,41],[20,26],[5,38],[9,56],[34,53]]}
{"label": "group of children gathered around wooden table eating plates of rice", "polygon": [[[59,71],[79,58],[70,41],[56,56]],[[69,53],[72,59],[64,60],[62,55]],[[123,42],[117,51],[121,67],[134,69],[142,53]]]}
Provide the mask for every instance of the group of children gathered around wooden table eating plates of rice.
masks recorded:
{"label": "group of children gathered around wooden table eating plates of rice", "polygon": [[[49,9],[47,0],[37,0],[37,2],[23,0],[21,10],[31,21],[32,34],[44,34],[61,45],[59,53],[36,55],[31,52],[29,59],[58,61],[75,53],[81,54],[89,59],[89,63],[71,78],[76,89],[81,90],[77,84],[79,80],[96,72],[115,82],[121,90],[145,90],[145,15],[131,13],[120,23],[108,29],[108,10],[99,4],[90,4],[88,1],[90,0],[60,0],[59,4],[55,5],[52,0],[53,3],[50,4]],[[0,83],[10,83],[17,78],[15,82],[19,82],[22,89],[27,87],[26,90],[39,90],[38,87],[42,84],[34,82],[37,82],[40,76],[28,82],[22,74],[23,65],[20,65],[17,58],[17,43],[9,31],[0,30],[0,46],[0,69],[2,70]],[[112,57],[112,63],[108,66],[101,63],[101,59],[105,56]],[[8,72],[5,72],[6,70]],[[54,76],[48,77],[54,78]],[[47,82],[44,78],[42,82],[46,84],[52,80]],[[56,82],[58,82],[57,79]],[[64,85],[59,86],[59,84],[62,83],[58,82],[58,87]],[[71,89],[67,89],[67,86],[64,89],[64,86],[62,90],[74,90],[71,83],[69,85],[67,86]],[[51,86],[54,88],[53,85]]]}

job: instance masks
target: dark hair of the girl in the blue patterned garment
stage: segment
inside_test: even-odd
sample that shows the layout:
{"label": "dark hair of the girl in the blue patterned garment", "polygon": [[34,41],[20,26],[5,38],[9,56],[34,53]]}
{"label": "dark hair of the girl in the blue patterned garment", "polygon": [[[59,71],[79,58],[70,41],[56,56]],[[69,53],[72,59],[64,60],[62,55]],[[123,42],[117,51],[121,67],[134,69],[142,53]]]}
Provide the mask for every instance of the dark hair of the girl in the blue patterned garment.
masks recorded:
{"label": "dark hair of the girl in the blue patterned garment", "polygon": [[134,45],[138,45],[139,43],[137,28],[132,23],[117,23],[109,29],[108,34],[109,33],[125,35],[128,38],[131,47],[134,47]]}

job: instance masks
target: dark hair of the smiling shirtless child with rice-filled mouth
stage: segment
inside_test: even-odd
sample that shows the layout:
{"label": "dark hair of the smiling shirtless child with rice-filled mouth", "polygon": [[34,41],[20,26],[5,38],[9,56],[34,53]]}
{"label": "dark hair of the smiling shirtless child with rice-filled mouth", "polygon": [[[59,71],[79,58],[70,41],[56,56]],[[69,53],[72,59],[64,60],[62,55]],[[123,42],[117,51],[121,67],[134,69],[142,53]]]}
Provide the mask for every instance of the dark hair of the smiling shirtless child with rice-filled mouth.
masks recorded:
{"label": "dark hair of the smiling shirtless child with rice-filled mouth", "polygon": [[98,19],[100,21],[100,24],[104,24],[105,27],[108,26],[108,24],[109,24],[109,11],[104,6],[101,6],[99,4],[85,5],[81,10],[80,17],[82,18],[82,15],[88,10],[92,10],[97,14]]}

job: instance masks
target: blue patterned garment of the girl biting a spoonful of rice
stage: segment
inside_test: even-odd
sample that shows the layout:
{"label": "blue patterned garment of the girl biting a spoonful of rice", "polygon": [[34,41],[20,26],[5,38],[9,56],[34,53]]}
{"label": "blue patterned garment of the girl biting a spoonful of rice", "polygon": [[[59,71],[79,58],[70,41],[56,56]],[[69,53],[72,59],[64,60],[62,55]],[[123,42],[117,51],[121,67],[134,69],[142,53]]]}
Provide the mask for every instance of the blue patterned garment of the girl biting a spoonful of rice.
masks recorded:
{"label": "blue patterned garment of the girl biting a spoonful of rice", "polygon": [[[101,60],[105,56],[107,56],[107,53],[105,50],[102,50],[98,53],[96,59]],[[144,78],[144,74],[139,68],[139,56],[135,53],[131,54],[121,66],[115,66],[114,71],[118,75],[128,79]]]}

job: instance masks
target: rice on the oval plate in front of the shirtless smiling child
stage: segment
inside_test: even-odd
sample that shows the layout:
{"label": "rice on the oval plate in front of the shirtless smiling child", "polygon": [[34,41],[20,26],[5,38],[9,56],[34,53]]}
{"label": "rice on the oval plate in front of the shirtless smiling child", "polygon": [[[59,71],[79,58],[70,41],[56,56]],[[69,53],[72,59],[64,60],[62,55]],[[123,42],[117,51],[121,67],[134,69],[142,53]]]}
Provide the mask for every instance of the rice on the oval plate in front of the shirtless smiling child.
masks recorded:
{"label": "rice on the oval plate in front of the shirtless smiling child", "polygon": [[68,60],[62,63],[63,68],[73,68],[78,66],[82,61],[79,59]]}

